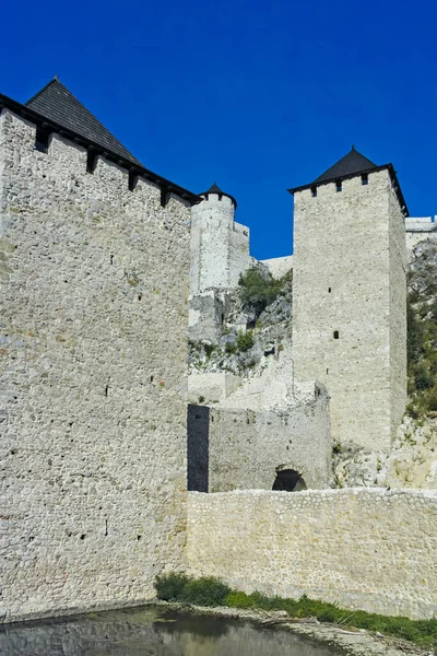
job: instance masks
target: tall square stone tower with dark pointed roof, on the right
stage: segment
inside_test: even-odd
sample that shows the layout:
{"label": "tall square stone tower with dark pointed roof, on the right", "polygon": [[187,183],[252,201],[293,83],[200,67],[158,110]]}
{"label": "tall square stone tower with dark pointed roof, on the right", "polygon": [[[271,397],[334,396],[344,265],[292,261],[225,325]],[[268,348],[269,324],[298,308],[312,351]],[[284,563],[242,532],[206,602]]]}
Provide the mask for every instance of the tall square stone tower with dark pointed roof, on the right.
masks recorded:
{"label": "tall square stone tower with dark pointed roof, on the right", "polygon": [[388,450],[406,401],[406,206],[391,164],[354,148],[294,195],[298,378],[331,396],[332,434]]}

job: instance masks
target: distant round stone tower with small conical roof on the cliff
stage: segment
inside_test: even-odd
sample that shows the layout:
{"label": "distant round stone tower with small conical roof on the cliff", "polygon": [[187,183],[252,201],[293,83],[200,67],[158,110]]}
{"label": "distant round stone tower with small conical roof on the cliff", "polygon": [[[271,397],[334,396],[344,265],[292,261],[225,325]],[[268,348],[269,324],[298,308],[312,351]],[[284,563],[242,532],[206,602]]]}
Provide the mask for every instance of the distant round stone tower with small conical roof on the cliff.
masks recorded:
{"label": "distant round stone tower with small conical roof on the cliff", "polygon": [[191,211],[190,339],[216,341],[227,292],[250,266],[249,229],[236,223],[235,198],[214,185]]}

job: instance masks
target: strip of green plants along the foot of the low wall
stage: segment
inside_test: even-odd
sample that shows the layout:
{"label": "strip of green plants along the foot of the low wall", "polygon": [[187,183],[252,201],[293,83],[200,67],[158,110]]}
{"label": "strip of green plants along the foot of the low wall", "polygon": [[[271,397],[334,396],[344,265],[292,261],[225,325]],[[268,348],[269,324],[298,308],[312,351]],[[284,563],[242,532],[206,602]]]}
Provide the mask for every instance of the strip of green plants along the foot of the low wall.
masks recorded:
{"label": "strip of green plants along the foot of the low wall", "polygon": [[212,576],[192,578],[186,574],[164,574],[156,577],[155,587],[158,599],[165,601],[196,606],[285,610],[291,618],[317,618],[319,622],[333,622],[342,626],[379,631],[386,635],[409,640],[420,645],[437,647],[437,620],[410,620],[364,610],[345,610],[335,604],[308,599],[305,595],[298,600],[267,597],[262,593],[247,595],[231,589]]}

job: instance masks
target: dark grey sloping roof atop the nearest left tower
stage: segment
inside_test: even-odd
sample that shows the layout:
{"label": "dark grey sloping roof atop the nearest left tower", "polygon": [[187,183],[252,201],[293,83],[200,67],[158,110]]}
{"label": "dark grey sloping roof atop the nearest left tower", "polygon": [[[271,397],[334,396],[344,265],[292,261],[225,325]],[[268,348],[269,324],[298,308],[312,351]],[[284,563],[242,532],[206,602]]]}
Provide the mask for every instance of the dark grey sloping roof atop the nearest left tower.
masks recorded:
{"label": "dark grey sloping roof atop the nearest left tower", "polygon": [[26,106],[120,157],[140,164],[57,78],[27,101]]}

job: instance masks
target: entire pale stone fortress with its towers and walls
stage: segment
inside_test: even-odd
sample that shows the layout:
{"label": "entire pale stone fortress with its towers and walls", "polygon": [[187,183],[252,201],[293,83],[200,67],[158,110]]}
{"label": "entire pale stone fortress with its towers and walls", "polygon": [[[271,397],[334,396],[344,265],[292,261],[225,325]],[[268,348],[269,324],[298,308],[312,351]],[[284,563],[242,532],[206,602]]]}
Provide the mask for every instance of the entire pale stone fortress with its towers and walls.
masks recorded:
{"label": "entire pale stone fortress with its towers and walls", "polygon": [[[58,80],[0,109],[1,618],[139,604],[172,570],[433,617],[436,492],[380,460],[332,489],[333,445],[389,457],[405,409],[408,254],[437,232],[392,165],[353,149],[291,189],[294,255],[257,262],[232,196],[145,168]],[[293,269],[292,331],[188,370],[253,329],[253,267]]]}

